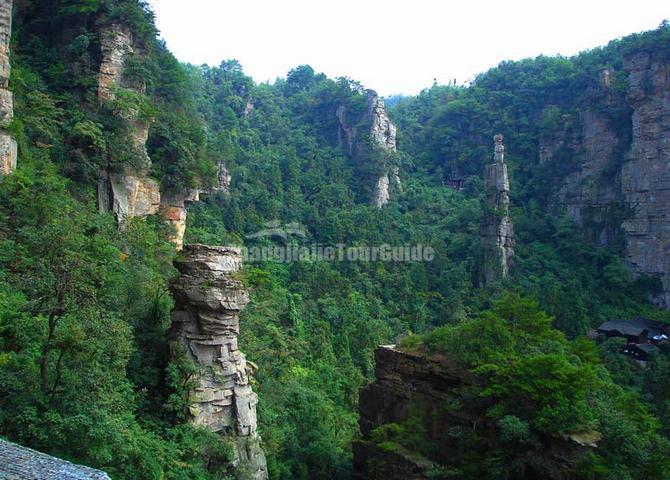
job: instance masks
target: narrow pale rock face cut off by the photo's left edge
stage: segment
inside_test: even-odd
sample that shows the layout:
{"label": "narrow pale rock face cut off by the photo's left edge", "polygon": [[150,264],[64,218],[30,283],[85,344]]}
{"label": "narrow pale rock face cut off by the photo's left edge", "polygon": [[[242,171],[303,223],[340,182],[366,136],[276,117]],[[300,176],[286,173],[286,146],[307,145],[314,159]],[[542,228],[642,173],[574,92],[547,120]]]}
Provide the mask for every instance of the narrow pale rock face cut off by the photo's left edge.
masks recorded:
{"label": "narrow pale rock face cut off by the photo's left edge", "polygon": [[0,176],[16,170],[18,148],[6,127],[14,118],[14,100],[9,89],[11,65],[9,42],[12,36],[12,0],[0,0]]}

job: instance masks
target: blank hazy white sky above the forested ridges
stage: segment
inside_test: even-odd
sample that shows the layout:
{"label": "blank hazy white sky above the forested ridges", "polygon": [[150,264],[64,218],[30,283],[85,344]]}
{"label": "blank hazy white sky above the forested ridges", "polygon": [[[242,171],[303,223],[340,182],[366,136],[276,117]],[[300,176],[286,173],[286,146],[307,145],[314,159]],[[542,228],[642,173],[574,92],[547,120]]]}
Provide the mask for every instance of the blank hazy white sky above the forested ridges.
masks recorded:
{"label": "blank hazy white sky above the forested ridges", "polygon": [[382,95],[459,84],[502,60],[572,55],[670,19],[670,0],[149,0],[179,60],[256,81],[309,64]]}

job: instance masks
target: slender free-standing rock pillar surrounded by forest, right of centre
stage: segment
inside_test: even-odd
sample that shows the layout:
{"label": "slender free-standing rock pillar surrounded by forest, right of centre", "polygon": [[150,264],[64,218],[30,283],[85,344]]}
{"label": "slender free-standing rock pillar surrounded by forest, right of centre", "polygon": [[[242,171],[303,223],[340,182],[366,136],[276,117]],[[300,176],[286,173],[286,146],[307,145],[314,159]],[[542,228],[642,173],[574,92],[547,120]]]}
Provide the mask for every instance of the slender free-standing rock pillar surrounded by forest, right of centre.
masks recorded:
{"label": "slender free-standing rock pillar surrounded by forest, right of centre", "polygon": [[505,279],[514,258],[514,228],[509,216],[509,176],[503,136],[496,135],[494,143],[495,163],[487,165],[484,172],[487,197],[480,225],[483,285]]}

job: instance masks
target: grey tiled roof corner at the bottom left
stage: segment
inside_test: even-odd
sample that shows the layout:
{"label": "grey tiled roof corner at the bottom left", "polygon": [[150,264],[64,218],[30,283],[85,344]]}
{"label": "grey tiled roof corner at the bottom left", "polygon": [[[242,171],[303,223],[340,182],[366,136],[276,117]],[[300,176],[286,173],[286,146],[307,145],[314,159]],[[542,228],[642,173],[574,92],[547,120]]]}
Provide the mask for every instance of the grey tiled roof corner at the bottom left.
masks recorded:
{"label": "grey tiled roof corner at the bottom left", "polygon": [[75,465],[0,440],[0,480],[110,480],[110,478],[103,471]]}

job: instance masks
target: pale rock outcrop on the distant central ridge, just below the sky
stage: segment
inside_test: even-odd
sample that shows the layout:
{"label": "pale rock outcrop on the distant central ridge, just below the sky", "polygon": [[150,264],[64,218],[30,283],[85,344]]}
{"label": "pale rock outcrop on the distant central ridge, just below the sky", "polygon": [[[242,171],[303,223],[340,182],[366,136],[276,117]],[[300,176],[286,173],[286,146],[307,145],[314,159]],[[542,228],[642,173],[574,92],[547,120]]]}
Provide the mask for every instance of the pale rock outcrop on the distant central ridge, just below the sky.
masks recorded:
{"label": "pale rock outcrop on the distant central ridge, just below the sky", "polygon": [[[391,199],[393,189],[402,190],[400,168],[391,162],[397,151],[397,129],[386,113],[384,100],[375,91],[367,91],[367,104],[364,118],[354,119],[353,122],[348,118],[345,107],[338,108],[338,140],[347,155],[356,163],[369,161],[365,155],[369,146],[382,158],[382,171],[375,183],[371,199],[374,205],[381,208]],[[363,125],[362,129],[360,125]]]}

